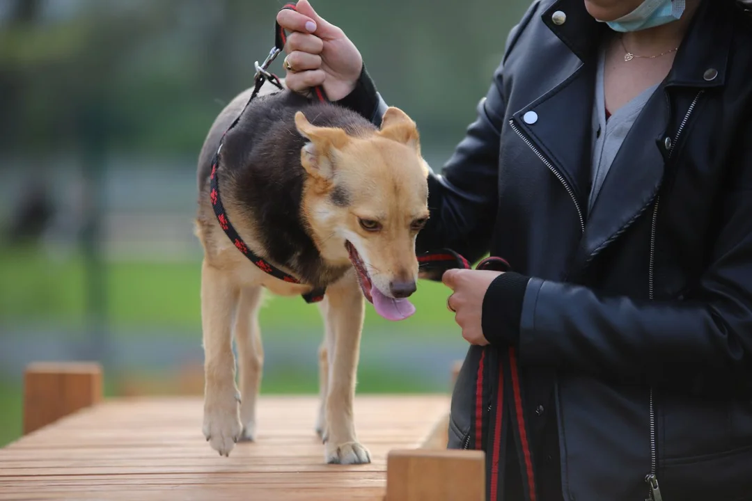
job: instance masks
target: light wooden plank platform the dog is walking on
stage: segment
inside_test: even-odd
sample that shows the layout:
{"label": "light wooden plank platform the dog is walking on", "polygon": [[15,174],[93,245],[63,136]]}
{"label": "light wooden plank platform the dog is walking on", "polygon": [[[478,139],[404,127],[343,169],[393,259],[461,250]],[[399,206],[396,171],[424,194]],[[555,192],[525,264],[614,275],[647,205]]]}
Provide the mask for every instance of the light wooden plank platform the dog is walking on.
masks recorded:
{"label": "light wooden plank platform the dog is walking on", "polygon": [[[482,453],[418,449],[448,406],[448,395],[357,397],[356,429],[372,462],[342,466],[323,462],[323,445],[314,433],[315,397],[262,396],[256,442],[239,443],[229,457],[220,457],[202,435],[200,397],[95,402],[0,449],[0,499],[382,501],[387,456],[396,465],[394,472],[390,466],[393,484],[411,482],[414,493],[405,487],[398,494],[390,486],[390,501],[429,499],[420,489],[435,489],[432,484],[452,472],[464,481],[475,478],[474,486],[483,479]],[[411,467],[416,460],[423,466]],[[426,471],[445,478],[429,481],[429,487],[410,480]],[[462,487],[464,481],[453,484],[462,496],[443,488],[441,497],[483,499],[470,492],[477,489]]]}

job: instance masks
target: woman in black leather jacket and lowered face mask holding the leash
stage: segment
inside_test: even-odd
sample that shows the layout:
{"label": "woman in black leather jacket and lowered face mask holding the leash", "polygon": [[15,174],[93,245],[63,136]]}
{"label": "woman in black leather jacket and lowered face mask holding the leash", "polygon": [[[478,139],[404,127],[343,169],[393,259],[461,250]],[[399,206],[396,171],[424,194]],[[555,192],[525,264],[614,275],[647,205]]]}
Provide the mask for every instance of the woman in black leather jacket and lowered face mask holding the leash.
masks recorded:
{"label": "woman in black leather jacket and lowered face mask holding the leash", "polygon": [[[347,37],[282,11],[287,85],[378,125]],[[734,0],[538,0],[429,178],[419,250],[472,345],[450,448],[488,499],[752,499],[752,21]]]}

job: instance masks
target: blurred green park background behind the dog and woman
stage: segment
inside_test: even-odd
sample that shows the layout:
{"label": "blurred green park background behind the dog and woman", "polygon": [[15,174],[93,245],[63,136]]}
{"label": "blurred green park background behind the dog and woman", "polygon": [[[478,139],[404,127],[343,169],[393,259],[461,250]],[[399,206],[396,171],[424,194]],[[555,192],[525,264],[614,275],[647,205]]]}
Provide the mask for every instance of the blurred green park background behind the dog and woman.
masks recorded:
{"label": "blurred green park background behind the dog and woman", "polygon": [[[108,395],[200,376],[196,158],[283,4],[0,0],[0,446],[20,436],[30,361],[100,361]],[[438,169],[529,0],[313,5],[417,121]],[[421,282],[399,324],[368,309],[358,391],[447,390],[467,346],[446,295]],[[263,393],[317,391],[321,328],[316,306],[267,300]]]}

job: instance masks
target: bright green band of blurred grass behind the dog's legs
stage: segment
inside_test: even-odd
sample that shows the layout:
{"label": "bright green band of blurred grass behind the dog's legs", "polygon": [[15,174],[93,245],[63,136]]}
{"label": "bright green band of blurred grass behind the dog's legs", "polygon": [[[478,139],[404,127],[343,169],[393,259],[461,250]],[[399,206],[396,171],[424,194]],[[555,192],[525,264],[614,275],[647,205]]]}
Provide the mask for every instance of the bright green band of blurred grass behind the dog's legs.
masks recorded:
{"label": "bright green band of blurred grass behind the dog's legs", "polygon": [[[35,249],[0,251],[0,320],[8,324],[42,322],[61,328],[83,327],[86,292],[80,255],[50,258]],[[106,267],[108,321],[114,330],[164,327],[165,333],[193,333],[201,326],[201,264],[196,262],[112,261]],[[399,323],[401,332],[430,333],[453,321],[444,308],[448,290],[421,281],[411,298],[417,313]],[[261,312],[262,325],[300,330],[321,324],[316,306],[300,297],[271,297]],[[393,322],[366,308],[365,324],[388,330]]]}

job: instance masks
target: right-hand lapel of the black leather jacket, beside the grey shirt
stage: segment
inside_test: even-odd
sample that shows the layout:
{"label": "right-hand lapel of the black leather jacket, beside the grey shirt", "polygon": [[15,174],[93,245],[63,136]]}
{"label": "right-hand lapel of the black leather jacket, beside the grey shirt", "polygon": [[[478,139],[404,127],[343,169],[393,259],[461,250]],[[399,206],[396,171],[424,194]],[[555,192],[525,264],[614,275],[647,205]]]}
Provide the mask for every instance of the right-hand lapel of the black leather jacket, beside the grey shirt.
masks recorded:
{"label": "right-hand lapel of the black leather jacket, beside the grey shirt", "polygon": [[672,146],[679,146],[675,144],[678,130],[691,101],[684,99],[678,106],[674,93],[680,88],[699,91],[723,85],[731,34],[729,30],[719,32],[718,26],[724,25],[716,17],[722,8],[726,7],[704,0],[696,11],[672,71],[644,105],[608,170],[588,215],[571,273],[584,270],[651,206],[658,194],[666,161],[670,154],[676,155],[670,152]]}

